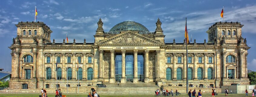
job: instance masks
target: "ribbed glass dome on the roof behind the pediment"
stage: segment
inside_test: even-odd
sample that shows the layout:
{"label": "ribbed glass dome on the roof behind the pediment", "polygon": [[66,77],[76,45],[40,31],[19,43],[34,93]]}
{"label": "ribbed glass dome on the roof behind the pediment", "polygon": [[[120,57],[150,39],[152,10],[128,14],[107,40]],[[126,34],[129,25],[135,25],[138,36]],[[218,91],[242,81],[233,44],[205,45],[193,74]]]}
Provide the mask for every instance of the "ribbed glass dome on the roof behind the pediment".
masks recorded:
{"label": "ribbed glass dome on the roof behind the pediment", "polygon": [[149,32],[148,29],[140,23],[135,21],[123,21],[121,23],[116,24],[112,27],[109,32],[120,32],[120,31],[139,31],[139,32]]}

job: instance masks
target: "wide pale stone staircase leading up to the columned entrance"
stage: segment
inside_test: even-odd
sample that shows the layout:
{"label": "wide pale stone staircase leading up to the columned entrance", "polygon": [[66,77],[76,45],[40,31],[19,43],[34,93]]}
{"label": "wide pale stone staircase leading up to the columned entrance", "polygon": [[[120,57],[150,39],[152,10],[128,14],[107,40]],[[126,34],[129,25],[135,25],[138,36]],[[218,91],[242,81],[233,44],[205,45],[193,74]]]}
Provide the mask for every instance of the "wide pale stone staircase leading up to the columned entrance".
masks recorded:
{"label": "wide pale stone staircase leading up to the columned entrance", "polygon": [[98,94],[152,94],[154,95],[156,89],[160,90],[160,87],[158,88],[155,82],[150,82],[150,83],[119,82],[119,85],[117,85],[117,82],[115,83],[104,82],[104,84],[107,87],[98,88],[96,90]]}

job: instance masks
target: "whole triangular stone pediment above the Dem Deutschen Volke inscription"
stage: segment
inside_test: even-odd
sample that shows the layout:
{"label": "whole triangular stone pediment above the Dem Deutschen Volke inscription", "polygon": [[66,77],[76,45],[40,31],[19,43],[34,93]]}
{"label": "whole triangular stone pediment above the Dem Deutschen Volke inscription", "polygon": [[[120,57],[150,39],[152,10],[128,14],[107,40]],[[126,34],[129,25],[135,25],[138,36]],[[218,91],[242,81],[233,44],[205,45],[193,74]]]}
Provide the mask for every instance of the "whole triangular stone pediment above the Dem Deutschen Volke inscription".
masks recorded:
{"label": "whole triangular stone pediment above the Dem Deutschen Volke inscription", "polygon": [[126,31],[97,44],[162,44],[159,41],[145,37],[133,31]]}

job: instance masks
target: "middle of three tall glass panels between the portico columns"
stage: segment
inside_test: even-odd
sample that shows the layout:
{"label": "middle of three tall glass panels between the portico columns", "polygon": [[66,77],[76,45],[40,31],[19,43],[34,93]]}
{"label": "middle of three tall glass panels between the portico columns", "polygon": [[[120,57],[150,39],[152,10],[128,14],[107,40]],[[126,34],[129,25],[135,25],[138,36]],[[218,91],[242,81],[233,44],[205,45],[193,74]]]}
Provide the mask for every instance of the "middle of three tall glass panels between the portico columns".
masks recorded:
{"label": "middle of three tall glass panels between the portico columns", "polygon": [[133,81],[134,72],[133,72],[133,53],[126,53],[125,56],[125,78],[126,81]]}

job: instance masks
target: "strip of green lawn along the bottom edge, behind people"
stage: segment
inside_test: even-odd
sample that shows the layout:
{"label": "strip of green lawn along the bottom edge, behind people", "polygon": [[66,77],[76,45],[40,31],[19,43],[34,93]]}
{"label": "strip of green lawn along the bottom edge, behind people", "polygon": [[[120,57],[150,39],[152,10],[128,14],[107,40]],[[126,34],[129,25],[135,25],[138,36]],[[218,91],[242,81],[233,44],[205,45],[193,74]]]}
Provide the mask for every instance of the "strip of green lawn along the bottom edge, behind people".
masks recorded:
{"label": "strip of green lawn along the bottom edge, behind people", "polygon": [[[251,94],[248,94],[251,97]],[[101,97],[155,97],[154,95],[100,95]],[[203,94],[203,97],[211,97],[211,94]],[[245,94],[228,94],[228,97],[241,97]],[[39,94],[1,94],[0,97],[39,97]],[[49,94],[48,97],[55,97]],[[68,94],[67,97],[87,97],[87,94]],[[188,95],[180,95],[179,97],[188,97]],[[215,97],[227,97],[224,94],[219,94]]]}

